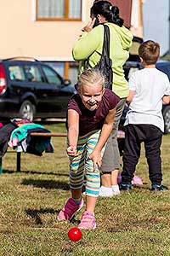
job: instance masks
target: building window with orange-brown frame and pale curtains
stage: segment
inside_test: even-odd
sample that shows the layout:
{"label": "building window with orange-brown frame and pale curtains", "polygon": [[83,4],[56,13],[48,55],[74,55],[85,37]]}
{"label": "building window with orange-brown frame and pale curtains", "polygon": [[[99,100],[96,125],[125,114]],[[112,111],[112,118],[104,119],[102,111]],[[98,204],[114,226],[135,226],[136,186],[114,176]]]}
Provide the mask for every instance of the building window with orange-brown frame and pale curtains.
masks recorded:
{"label": "building window with orange-brown frame and pale curtains", "polygon": [[36,0],[37,20],[82,20],[82,0]]}

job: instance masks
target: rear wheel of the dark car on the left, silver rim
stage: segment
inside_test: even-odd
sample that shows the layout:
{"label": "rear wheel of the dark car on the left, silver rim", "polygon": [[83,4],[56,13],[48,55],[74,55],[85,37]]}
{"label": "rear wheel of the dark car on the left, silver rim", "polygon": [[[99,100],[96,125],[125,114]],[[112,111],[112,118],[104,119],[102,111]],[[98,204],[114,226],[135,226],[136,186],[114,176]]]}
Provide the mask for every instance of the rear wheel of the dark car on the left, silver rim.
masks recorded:
{"label": "rear wheel of the dark car on the left, silver rim", "polygon": [[25,101],[20,107],[20,116],[23,119],[29,119],[32,121],[36,112],[35,110],[35,106],[30,101]]}

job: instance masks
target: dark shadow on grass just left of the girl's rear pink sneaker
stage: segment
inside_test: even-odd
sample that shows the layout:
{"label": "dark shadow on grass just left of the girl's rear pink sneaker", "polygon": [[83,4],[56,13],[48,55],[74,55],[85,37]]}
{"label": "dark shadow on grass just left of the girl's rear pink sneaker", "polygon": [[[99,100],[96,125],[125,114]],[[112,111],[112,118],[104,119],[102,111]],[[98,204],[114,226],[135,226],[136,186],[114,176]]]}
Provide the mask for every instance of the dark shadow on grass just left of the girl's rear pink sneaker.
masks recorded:
{"label": "dark shadow on grass just left of the girl's rear pink sneaker", "polygon": [[45,209],[40,209],[40,210],[36,210],[36,209],[27,209],[26,211],[26,214],[31,216],[31,218],[33,218],[35,220],[35,224],[37,225],[42,225],[42,219],[41,217],[39,216],[40,214],[48,214],[48,213],[51,213],[51,214],[58,214],[59,211],[57,210],[54,210],[53,208],[45,208]]}

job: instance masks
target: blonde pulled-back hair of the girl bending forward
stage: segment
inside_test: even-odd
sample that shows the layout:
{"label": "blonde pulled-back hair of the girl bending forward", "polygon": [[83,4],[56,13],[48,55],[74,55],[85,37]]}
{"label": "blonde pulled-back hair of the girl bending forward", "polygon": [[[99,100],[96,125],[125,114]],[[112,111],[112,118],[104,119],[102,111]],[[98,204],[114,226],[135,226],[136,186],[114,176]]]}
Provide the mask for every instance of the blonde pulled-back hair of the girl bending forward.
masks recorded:
{"label": "blonde pulled-back hair of the girl bending forward", "polygon": [[82,94],[83,85],[94,86],[94,84],[101,84],[103,90],[105,88],[105,76],[99,72],[99,69],[87,69],[78,79],[77,91]]}

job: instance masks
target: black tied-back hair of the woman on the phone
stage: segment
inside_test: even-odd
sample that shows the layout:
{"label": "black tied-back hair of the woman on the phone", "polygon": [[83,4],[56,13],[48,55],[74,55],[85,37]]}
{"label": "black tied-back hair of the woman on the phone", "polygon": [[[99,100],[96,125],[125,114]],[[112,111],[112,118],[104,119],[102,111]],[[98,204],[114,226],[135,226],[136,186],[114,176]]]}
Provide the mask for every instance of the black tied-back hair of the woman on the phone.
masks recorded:
{"label": "black tied-back hair of the woman on the phone", "polygon": [[108,1],[94,2],[94,5],[90,9],[91,15],[102,15],[108,22],[114,23],[118,26],[122,26],[124,20],[119,17],[119,9],[113,6]]}

